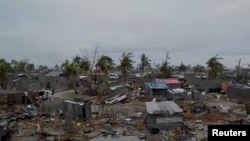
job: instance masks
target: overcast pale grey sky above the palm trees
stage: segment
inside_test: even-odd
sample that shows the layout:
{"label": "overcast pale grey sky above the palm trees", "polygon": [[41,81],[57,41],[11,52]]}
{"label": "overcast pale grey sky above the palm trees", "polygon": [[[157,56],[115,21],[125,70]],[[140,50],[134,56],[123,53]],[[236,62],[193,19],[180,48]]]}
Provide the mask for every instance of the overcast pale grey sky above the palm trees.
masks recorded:
{"label": "overcast pale grey sky above the palm trees", "polygon": [[0,0],[0,58],[61,65],[98,47],[161,64],[250,64],[249,0]]}

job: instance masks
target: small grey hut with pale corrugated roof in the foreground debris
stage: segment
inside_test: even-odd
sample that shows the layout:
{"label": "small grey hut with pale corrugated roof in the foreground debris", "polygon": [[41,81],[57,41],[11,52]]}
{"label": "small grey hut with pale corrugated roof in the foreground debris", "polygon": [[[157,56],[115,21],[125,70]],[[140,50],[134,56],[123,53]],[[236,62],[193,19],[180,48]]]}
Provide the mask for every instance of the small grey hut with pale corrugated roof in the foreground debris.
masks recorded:
{"label": "small grey hut with pale corrugated roof in the foreground debris", "polygon": [[174,101],[146,102],[146,126],[148,129],[171,130],[182,127],[183,111]]}

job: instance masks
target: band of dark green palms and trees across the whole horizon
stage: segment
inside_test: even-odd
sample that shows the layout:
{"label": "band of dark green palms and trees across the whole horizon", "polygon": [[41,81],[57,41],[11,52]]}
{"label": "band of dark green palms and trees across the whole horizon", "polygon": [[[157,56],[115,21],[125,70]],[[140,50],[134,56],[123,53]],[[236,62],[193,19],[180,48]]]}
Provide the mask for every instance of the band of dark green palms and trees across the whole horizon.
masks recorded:
{"label": "band of dark green palms and trees across the whole horizon", "polygon": [[[114,63],[114,60],[106,55],[101,55],[100,57],[97,54],[97,48],[94,51],[93,57],[88,55],[88,52],[83,52],[83,56],[76,55],[72,58],[72,60],[66,59],[65,62],[59,65],[55,65],[56,70],[61,69],[63,71],[63,75],[67,77],[69,83],[68,89],[76,89],[78,87],[78,77],[82,74],[90,74],[90,83],[96,82],[99,75],[103,75],[108,77],[110,72],[118,72],[120,71],[121,80],[130,79],[129,77],[133,73],[140,72],[141,75],[146,79],[152,79],[155,77],[168,78],[171,77],[174,73],[193,73],[196,75],[207,75],[207,79],[224,79],[227,77],[236,77],[236,81],[241,83],[249,83],[249,72],[250,65],[248,68],[243,68],[239,60],[239,64],[235,70],[232,72],[226,71],[225,66],[220,62],[223,58],[219,55],[212,56],[208,58],[207,62],[204,65],[197,64],[195,66],[185,65],[181,62],[180,65],[172,65],[168,62],[170,57],[168,56],[168,52],[166,55],[166,60],[163,60],[161,63],[152,62],[153,66],[151,66],[150,58],[144,53],[140,56],[140,61],[138,62],[136,67],[134,64],[136,63],[133,59],[134,55],[132,52],[123,52],[119,57],[118,64]],[[95,67],[95,69],[93,69]],[[9,81],[9,76],[17,76],[19,73],[26,73],[30,76],[32,81],[38,81],[40,77],[33,75],[39,73],[47,73],[50,69],[46,65],[39,65],[37,69],[35,69],[35,65],[30,63],[29,59],[24,59],[21,61],[17,61],[12,59],[11,62],[7,62],[4,58],[0,58],[0,84],[1,87],[4,88]],[[105,88],[109,87],[109,80],[105,78]],[[88,84],[88,86],[92,86],[92,84]],[[70,97],[79,97],[77,94],[69,94]]]}

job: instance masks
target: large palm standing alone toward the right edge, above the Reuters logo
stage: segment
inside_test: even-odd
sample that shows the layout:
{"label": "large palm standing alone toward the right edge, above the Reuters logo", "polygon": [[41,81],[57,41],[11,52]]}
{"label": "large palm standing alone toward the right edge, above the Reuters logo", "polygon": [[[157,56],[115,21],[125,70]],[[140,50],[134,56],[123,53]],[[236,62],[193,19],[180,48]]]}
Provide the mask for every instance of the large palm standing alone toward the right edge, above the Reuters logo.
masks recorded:
{"label": "large palm standing alone toward the right edge, above the Reuters logo", "polygon": [[215,55],[206,62],[208,68],[207,79],[218,79],[220,77],[220,74],[225,68],[224,65],[219,62],[220,59],[223,58]]}

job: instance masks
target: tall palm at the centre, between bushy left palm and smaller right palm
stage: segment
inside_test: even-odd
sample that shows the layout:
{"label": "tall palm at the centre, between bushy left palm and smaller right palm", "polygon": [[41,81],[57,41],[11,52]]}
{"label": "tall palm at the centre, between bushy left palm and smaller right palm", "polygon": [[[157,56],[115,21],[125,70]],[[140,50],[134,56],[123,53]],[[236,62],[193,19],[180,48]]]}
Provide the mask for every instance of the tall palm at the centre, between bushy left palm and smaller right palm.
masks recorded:
{"label": "tall palm at the centre, between bushy left palm and smaller right palm", "polygon": [[133,69],[133,63],[134,61],[131,59],[133,57],[132,52],[123,52],[122,57],[119,58],[120,60],[120,66],[119,69],[121,70],[121,77],[122,79],[125,79],[127,75],[127,71]]}

